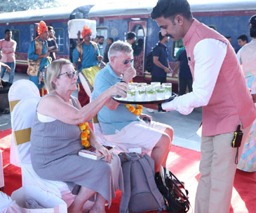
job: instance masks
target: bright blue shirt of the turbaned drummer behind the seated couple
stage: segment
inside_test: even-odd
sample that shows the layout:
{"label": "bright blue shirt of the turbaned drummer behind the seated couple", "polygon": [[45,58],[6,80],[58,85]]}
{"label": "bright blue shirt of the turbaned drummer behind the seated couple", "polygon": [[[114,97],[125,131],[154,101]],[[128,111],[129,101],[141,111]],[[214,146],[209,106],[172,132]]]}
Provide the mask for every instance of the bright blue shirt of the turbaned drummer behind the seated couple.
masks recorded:
{"label": "bright blue shirt of the turbaned drummer behind the seated couple", "polygon": [[[90,45],[86,45],[85,43],[83,45],[83,56],[81,59],[81,68],[90,68],[91,66],[95,66],[97,64],[97,59],[95,56],[95,49],[90,43]],[[97,55],[99,55],[99,49],[97,48]],[[80,54],[77,51],[77,47],[74,49],[73,52],[73,63],[77,63],[79,61]]]}

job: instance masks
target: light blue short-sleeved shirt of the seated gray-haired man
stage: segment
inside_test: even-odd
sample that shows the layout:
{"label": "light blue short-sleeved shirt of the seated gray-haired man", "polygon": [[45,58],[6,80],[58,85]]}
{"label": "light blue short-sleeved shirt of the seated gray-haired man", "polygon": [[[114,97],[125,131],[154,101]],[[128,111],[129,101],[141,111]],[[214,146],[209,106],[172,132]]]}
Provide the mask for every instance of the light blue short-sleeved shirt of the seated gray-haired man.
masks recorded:
{"label": "light blue short-sleeved shirt of the seated gray-haired man", "polygon": [[[120,81],[121,78],[116,75],[111,66],[107,64],[107,66],[96,75],[92,98],[97,98],[102,92]],[[140,121],[140,117],[130,112],[123,103],[120,103],[116,110],[109,110],[109,108],[104,106],[100,112],[97,113],[97,119],[100,122],[100,127],[104,135],[112,135],[116,133],[116,130],[121,131],[124,126],[131,122]]]}

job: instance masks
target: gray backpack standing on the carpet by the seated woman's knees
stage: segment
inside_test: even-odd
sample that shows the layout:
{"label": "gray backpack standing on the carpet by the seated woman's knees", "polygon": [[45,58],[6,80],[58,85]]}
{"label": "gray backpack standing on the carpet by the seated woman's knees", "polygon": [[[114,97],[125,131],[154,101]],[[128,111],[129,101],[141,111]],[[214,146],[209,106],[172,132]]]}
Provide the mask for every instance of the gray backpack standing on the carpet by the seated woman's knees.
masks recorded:
{"label": "gray backpack standing on the carpet by the seated woman's knees", "polygon": [[120,213],[147,212],[164,207],[163,196],[154,180],[154,160],[147,154],[119,154],[123,169],[124,193]]}

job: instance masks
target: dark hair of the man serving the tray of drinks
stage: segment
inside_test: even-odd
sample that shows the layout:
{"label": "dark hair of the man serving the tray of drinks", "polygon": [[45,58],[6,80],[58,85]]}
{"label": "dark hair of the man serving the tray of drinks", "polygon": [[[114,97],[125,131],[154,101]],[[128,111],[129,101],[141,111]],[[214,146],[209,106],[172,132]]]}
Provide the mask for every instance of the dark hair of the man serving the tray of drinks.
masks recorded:
{"label": "dark hair of the man serving the tray of drinks", "polygon": [[151,18],[155,20],[163,16],[173,19],[175,15],[179,14],[188,20],[193,17],[187,0],[159,0],[151,12]]}

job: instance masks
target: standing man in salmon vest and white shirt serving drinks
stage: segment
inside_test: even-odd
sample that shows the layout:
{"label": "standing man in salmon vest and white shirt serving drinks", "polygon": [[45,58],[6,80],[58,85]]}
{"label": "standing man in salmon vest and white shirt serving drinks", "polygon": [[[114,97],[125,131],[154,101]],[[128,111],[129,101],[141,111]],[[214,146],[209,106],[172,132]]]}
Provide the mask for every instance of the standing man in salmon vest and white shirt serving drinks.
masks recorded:
{"label": "standing man in salmon vest and white shirt serving drinks", "polygon": [[[188,94],[146,107],[187,115],[203,106],[201,177],[195,212],[229,212],[236,163],[256,117],[234,49],[227,38],[194,19],[187,0],[159,0],[151,18],[163,36],[173,41],[182,38],[194,82]],[[238,126],[243,139],[237,154],[231,141]]]}

